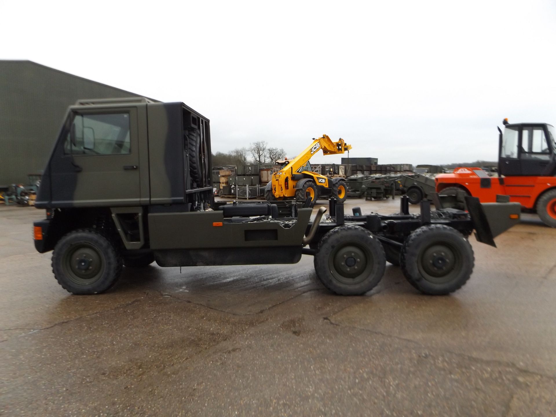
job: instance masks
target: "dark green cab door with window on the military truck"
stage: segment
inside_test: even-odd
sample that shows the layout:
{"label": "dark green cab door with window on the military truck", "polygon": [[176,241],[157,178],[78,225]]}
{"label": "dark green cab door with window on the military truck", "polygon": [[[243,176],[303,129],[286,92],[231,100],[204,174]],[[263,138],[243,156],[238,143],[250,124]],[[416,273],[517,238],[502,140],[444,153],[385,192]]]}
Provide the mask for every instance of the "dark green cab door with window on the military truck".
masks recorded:
{"label": "dark green cab door with window on the military truck", "polygon": [[[72,113],[61,163],[52,167],[52,201],[63,206],[131,206],[140,202],[137,108]],[[61,186],[64,185],[64,186]]]}

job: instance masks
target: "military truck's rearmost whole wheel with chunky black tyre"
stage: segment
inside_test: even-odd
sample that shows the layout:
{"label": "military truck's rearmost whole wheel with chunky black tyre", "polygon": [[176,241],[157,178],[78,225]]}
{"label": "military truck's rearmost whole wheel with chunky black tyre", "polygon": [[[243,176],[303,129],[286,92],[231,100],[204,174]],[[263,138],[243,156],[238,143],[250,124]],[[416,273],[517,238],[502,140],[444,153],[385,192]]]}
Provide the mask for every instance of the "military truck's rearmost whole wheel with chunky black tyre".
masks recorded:
{"label": "military truck's rearmost whole wheel with chunky black tyre", "polygon": [[419,227],[404,242],[401,268],[416,289],[445,295],[460,289],[471,276],[475,257],[469,241],[452,227]]}

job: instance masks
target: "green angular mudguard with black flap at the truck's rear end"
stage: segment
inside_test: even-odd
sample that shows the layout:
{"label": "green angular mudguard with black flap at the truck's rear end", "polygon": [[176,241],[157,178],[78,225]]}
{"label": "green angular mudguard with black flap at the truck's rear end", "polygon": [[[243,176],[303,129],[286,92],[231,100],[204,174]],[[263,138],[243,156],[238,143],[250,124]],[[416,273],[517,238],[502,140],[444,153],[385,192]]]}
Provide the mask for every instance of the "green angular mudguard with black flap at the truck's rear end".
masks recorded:
{"label": "green angular mudguard with black flap at the truck's rear end", "polygon": [[473,221],[475,237],[481,243],[496,247],[494,238],[519,223],[520,203],[481,203],[478,197],[466,196],[465,204]]}

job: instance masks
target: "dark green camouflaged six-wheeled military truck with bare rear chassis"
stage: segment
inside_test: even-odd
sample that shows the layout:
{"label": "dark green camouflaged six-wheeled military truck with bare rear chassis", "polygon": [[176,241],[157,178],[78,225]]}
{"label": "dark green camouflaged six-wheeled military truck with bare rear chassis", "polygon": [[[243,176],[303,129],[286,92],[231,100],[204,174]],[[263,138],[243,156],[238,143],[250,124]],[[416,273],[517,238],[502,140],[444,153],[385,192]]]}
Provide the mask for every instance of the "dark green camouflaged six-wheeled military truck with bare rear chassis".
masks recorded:
{"label": "dark green camouflaged six-wheeled military truck with bare rear chassis", "polygon": [[[469,279],[466,239],[493,238],[519,221],[519,203],[466,209],[421,203],[409,214],[344,214],[330,198],[311,221],[314,202],[215,202],[210,122],[183,103],[144,98],[81,100],[68,108],[44,170],[34,222],[38,252],[53,250],[52,270],[73,294],[98,294],[122,267],[295,264],[314,256],[317,277],[342,295],[364,294],[400,264],[425,294],[448,294]],[[440,197],[439,197],[440,198]],[[446,200],[448,199],[448,200]],[[283,209],[284,207],[282,207]],[[329,210],[326,221],[321,222]],[[280,214],[280,212],[282,214]]]}

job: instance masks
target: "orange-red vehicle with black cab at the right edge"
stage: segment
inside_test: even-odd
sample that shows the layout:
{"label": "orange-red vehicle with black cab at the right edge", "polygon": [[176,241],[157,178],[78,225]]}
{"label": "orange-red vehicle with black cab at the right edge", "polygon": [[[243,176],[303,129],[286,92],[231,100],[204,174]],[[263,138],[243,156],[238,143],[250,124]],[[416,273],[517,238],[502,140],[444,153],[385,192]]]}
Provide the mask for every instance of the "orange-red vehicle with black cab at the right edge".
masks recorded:
{"label": "orange-red vehicle with black cab at the right edge", "polygon": [[547,123],[508,123],[498,145],[498,175],[490,177],[477,167],[457,167],[436,176],[436,191],[464,191],[481,202],[494,202],[498,194],[537,212],[545,225],[556,227],[556,132]]}

